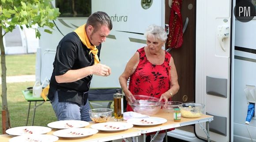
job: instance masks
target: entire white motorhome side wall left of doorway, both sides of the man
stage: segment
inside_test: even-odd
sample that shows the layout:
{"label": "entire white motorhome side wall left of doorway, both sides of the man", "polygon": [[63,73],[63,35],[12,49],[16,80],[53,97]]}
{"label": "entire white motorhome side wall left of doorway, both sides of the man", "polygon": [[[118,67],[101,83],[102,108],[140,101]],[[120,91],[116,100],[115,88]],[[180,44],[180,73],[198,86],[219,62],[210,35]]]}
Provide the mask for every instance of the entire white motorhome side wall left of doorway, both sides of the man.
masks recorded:
{"label": "entire white motorhome side wall left of doorway, both sides of the man", "polygon": [[[92,13],[95,11],[105,11],[113,21],[113,29],[109,35],[115,38],[107,38],[102,43],[100,60],[112,69],[109,77],[93,76],[91,88],[120,87],[118,78],[124,71],[128,60],[137,49],[145,46],[144,43],[132,42],[131,38],[142,40],[146,43],[146,38],[142,35],[147,26],[156,24],[164,27],[164,2],[165,0],[154,0],[148,9],[143,9],[140,0],[92,0]],[[55,1],[53,1],[55,4]],[[120,17],[122,19],[120,19]],[[87,18],[58,18],[55,22],[60,31],[65,35],[86,23]],[[65,24],[63,24],[65,23]],[[44,58],[45,51],[55,50],[63,37],[54,27],[53,34],[41,31],[40,48],[41,59]],[[140,34],[137,34],[140,33]],[[53,68],[54,57],[48,60],[49,67],[41,68],[41,71]],[[45,62],[45,60],[42,60]],[[42,65],[43,63],[41,63]],[[47,71],[50,72],[50,71]],[[40,74],[41,75],[41,74]],[[46,75],[50,78],[51,75]],[[46,76],[41,76],[41,82]],[[38,77],[37,77],[38,78]]]}

